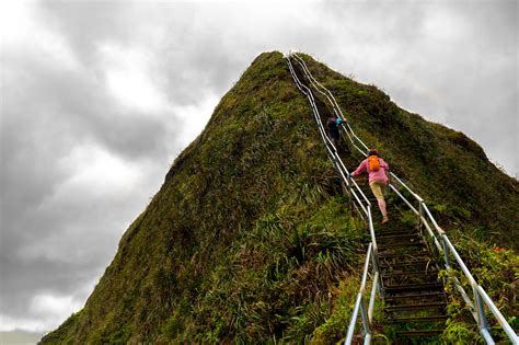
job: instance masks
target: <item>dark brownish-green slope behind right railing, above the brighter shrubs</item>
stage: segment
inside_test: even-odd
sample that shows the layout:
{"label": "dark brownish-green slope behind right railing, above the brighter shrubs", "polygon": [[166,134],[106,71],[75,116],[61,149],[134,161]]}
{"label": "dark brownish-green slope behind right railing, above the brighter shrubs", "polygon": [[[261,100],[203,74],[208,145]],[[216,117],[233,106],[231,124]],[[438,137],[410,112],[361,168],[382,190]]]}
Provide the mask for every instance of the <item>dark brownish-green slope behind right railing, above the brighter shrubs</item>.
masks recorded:
{"label": "dark brownish-green slope behind right railing, above the brighter shrubs", "polygon": [[[464,228],[504,248],[519,243],[519,183],[460,131],[399,108],[372,85],[353,81],[304,55],[359,137],[436,209],[449,231]],[[436,207],[435,207],[436,206]]]}

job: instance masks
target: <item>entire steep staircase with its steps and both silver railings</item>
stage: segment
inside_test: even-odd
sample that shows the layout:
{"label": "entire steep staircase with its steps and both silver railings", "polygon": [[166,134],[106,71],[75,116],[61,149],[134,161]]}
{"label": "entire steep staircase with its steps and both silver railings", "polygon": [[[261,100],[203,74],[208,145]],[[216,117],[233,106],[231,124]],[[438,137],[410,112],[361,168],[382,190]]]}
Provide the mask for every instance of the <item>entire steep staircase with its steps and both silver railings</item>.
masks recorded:
{"label": "entire steep staircase with its steps and both silver railings", "polygon": [[[489,311],[511,343],[519,344],[517,334],[472,277],[425,202],[393,173],[391,173],[393,183],[389,187],[399,198],[395,203],[388,205],[389,215],[390,217],[395,215],[402,207],[408,208],[417,216],[418,226],[405,225],[397,217],[393,217],[389,225],[374,225],[371,206],[377,205],[377,202],[371,196],[369,185],[366,179],[353,179],[346,168],[358,163],[353,160],[350,150],[357,150],[366,156],[368,147],[357,137],[348,123],[343,123],[342,134],[344,138],[347,138],[350,148],[344,145],[334,147],[323,124],[332,112],[344,119],[337,102],[332,93],[312,76],[301,57],[290,53],[286,59],[297,87],[309,100],[327,154],[343,179],[351,205],[366,221],[371,237],[345,344],[351,344],[359,313],[364,343],[371,342],[371,323],[377,292],[384,301],[387,324],[399,340],[399,344],[440,342],[439,337],[447,320],[443,281],[438,277],[441,264],[449,272],[453,269],[453,265],[457,265],[470,283],[472,294],[466,292],[458,278],[454,276],[450,278],[465,303],[472,307],[474,320],[486,343],[494,344],[486,320],[487,311]],[[411,195],[411,197],[404,195]],[[371,291],[368,295],[366,288],[370,278]],[[368,296],[369,299],[367,299]]]}

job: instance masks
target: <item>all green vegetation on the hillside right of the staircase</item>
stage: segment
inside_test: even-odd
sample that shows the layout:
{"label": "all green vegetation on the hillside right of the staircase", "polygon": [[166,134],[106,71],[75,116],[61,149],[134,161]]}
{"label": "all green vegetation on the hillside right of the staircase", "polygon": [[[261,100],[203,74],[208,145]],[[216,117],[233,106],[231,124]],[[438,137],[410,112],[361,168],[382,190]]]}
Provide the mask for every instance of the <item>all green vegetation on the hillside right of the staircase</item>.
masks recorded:
{"label": "all green vegetation on the hillside right of the staircase", "polygon": [[[392,170],[427,200],[475,279],[517,330],[519,256],[514,250],[519,243],[518,182],[492,164],[481,147],[462,133],[401,110],[376,87],[359,84],[302,56],[314,77],[335,95],[362,140],[379,148]],[[396,203],[394,195],[389,203]],[[416,217],[405,209],[401,221],[415,225]],[[464,281],[462,275],[457,276]],[[471,291],[470,286],[465,289]],[[481,341],[468,307],[452,286],[449,292],[453,292],[450,319],[442,341]],[[489,313],[488,320],[496,330],[493,336],[506,343]]]}

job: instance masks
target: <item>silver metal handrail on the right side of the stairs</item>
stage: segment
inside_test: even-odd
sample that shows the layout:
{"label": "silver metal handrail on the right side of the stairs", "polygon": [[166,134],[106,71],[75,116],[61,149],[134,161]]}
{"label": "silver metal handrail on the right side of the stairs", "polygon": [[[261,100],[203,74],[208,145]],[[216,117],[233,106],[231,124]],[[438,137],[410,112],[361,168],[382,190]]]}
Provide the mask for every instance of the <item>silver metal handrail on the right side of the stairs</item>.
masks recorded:
{"label": "silver metal handrail on the right side of the stairs", "polygon": [[[315,78],[313,78],[312,73],[310,72],[310,70],[308,69],[304,60],[302,58],[300,58],[296,53],[289,53],[288,57],[287,57],[287,60],[290,61],[290,57],[295,57],[298,59],[298,61],[301,61],[301,66],[303,66],[303,71],[304,73],[307,74],[307,78],[309,79],[310,83],[312,84],[312,87],[314,89],[323,89],[325,91],[320,91],[321,94],[324,94],[326,96],[326,99],[328,100],[328,102],[331,102],[333,108],[334,108],[334,112],[338,115],[341,114],[341,116],[343,115],[342,111],[341,111],[341,107],[338,106],[338,103],[337,101],[335,100],[335,97],[333,96],[333,94],[330,92],[330,90],[327,90],[325,87],[323,87],[319,81],[315,80]],[[325,92],[327,94],[325,94]],[[343,120],[345,120],[344,116],[342,117]],[[364,143],[364,141],[354,134],[350,125],[348,122],[346,122],[347,124],[347,128],[350,130],[351,135],[361,143],[362,147],[365,147],[367,150],[368,150],[368,147]],[[344,128],[343,128],[344,129]],[[346,130],[347,133],[347,130]],[[348,138],[349,140],[351,141],[351,145],[354,145],[354,147],[357,148],[357,150],[359,150],[362,154],[367,156],[367,152],[362,152],[354,142],[351,136],[349,136],[348,134]],[[476,283],[476,280],[474,279],[474,277],[472,276],[470,269],[466,267],[466,264],[463,262],[463,260],[461,258],[460,254],[458,253],[458,251],[455,250],[454,245],[450,242],[449,238],[447,237],[447,233],[438,226],[438,222],[436,221],[436,219],[434,218],[432,214],[430,212],[430,210],[428,209],[427,205],[425,204],[425,200],[418,195],[416,194],[415,192],[413,192],[413,189],[411,189],[399,176],[396,176],[394,173],[390,173],[390,176],[394,180],[396,180],[399,182],[399,184],[404,187],[407,192],[411,193],[412,196],[414,196],[414,198],[419,203],[419,210],[416,210],[415,207],[413,207],[413,205],[411,204],[410,200],[407,200],[407,198],[405,198],[405,196],[402,195],[402,193],[399,192],[399,189],[392,184],[390,183],[390,188],[392,191],[394,191],[396,193],[396,195],[399,195],[399,197],[401,197],[407,206],[410,206],[410,208],[415,212],[417,214],[417,216],[419,217],[419,227],[422,228],[422,226],[424,226],[427,230],[427,233],[429,234],[429,237],[432,239],[434,243],[435,243],[435,246],[438,249],[439,253],[443,253],[443,261],[445,261],[445,265],[446,265],[446,268],[448,272],[452,272],[452,266],[451,266],[451,261],[450,261],[450,255],[452,254],[452,256],[454,257],[457,264],[460,266],[462,273],[465,275],[465,277],[468,278],[471,287],[472,287],[472,290],[473,290],[473,297],[474,299],[472,300],[469,295],[466,294],[466,291],[463,289],[463,287],[461,286],[460,281],[458,280],[457,277],[453,277],[453,278],[450,278],[450,275],[449,275],[449,278],[452,279],[455,288],[458,289],[458,291],[461,294],[463,300],[473,309],[475,309],[472,314],[475,319],[475,321],[477,322],[477,326],[480,329],[480,333],[483,335],[484,340],[486,341],[487,344],[494,344],[494,340],[491,335],[491,327],[488,325],[488,322],[486,320],[486,315],[485,315],[485,306],[487,306],[488,310],[493,313],[494,318],[497,320],[497,322],[500,324],[501,329],[504,330],[504,332],[507,334],[507,336],[509,337],[509,340],[512,342],[512,344],[519,344],[519,337],[517,336],[516,332],[512,330],[512,327],[509,325],[509,323],[506,321],[506,319],[504,318],[504,315],[500,313],[500,311],[497,309],[497,307],[494,304],[494,302],[492,301],[492,299],[488,297],[488,295],[486,294],[485,289],[478,285]],[[430,227],[430,223],[429,221],[427,221],[427,219],[430,220],[430,222],[432,223],[432,227]],[[435,231],[436,230],[436,233]],[[373,234],[374,237],[374,234]],[[438,237],[439,237],[439,240],[438,240]],[[440,244],[441,243],[441,244]]]}

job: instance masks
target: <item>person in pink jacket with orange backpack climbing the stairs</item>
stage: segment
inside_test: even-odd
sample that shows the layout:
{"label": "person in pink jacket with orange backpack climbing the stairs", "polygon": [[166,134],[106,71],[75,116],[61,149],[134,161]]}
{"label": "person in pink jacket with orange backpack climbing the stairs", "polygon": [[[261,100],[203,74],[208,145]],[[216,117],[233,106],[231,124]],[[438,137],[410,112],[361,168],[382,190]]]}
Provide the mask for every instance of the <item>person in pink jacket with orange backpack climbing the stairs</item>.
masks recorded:
{"label": "person in pink jacket with orange backpack climbing the stairs", "polygon": [[[371,169],[370,169],[371,166]],[[389,184],[388,175],[389,164],[379,157],[377,149],[370,149],[368,158],[365,159],[360,165],[351,173],[351,176],[360,175],[364,172],[368,173],[369,186],[373,192],[374,197],[379,204],[380,212],[382,214],[382,221],[384,225],[389,221],[388,211],[385,210],[384,189]]]}

